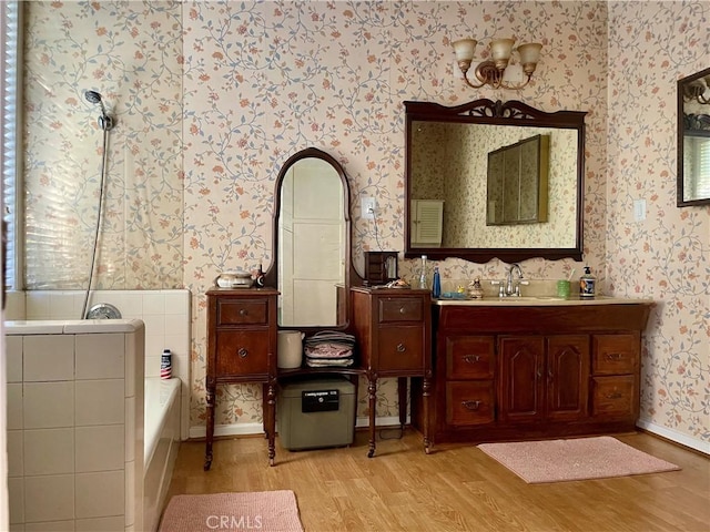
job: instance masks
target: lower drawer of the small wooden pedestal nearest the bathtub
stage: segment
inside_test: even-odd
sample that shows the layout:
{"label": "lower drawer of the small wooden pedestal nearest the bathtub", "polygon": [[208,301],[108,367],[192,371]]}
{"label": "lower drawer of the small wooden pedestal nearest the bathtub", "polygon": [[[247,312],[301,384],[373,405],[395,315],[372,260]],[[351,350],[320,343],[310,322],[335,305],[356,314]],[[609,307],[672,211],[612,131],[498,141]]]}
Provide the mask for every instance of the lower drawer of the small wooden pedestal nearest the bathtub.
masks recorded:
{"label": "lower drawer of the small wooden pedestal nearest the bathtub", "polygon": [[216,336],[217,379],[268,374],[268,330],[221,330]]}

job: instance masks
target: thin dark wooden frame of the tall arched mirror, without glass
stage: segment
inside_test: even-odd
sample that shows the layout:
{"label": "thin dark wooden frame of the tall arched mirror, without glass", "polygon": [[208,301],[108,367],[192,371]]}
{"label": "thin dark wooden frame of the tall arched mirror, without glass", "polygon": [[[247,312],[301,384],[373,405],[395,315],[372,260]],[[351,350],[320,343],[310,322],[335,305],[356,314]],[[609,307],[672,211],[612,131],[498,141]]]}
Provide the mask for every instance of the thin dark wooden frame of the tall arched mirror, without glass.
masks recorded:
{"label": "thin dark wooden frame of the tall arched mirror, without glass", "polygon": [[278,287],[278,217],[281,214],[281,190],[284,178],[286,174],[291,170],[291,167],[296,164],[298,161],[304,158],[320,158],[326,163],[328,163],[336,171],[337,175],[341,177],[341,182],[343,184],[343,216],[345,222],[345,249],[344,257],[345,264],[343,265],[345,272],[343,276],[343,290],[338,294],[338,305],[337,305],[337,325],[335,326],[298,326],[298,325],[278,325],[278,328],[282,330],[301,330],[311,335],[313,332],[317,332],[318,330],[345,330],[349,328],[351,324],[351,286],[353,282],[359,279],[359,275],[355,270],[353,266],[353,257],[352,257],[352,226],[351,226],[351,191],[347,181],[347,176],[341,163],[338,163],[333,156],[325,153],[317,147],[306,147],[286,160],[286,162],[281,167],[278,172],[278,176],[276,177],[276,183],[274,185],[274,212],[272,216],[272,229],[273,229],[273,241],[272,241],[272,249],[273,249],[273,259],[268,267],[268,269],[264,273],[264,284],[266,286],[273,286],[275,288]]}

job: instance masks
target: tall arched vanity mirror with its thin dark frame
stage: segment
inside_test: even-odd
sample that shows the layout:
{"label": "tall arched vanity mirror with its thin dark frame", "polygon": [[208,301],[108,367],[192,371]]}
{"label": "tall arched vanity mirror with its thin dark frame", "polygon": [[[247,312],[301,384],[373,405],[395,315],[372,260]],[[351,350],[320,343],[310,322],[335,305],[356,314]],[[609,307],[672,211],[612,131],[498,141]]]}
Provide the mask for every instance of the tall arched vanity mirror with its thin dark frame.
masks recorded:
{"label": "tall arched vanity mirror with its thin dark frame", "polygon": [[308,147],[292,155],[276,178],[274,260],[266,283],[276,286],[278,326],[347,326],[349,308],[349,191],[341,164]]}

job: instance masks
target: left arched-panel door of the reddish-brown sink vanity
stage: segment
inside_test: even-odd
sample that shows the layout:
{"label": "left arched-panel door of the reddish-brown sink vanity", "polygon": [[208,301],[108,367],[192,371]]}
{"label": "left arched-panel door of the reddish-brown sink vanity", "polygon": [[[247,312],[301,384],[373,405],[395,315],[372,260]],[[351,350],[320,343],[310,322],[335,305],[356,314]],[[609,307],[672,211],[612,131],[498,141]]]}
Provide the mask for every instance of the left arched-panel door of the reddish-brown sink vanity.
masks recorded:
{"label": "left arched-panel door of the reddish-brown sink vanity", "polygon": [[504,336],[500,354],[500,418],[505,421],[538,420],[544,416],[545,338]]}

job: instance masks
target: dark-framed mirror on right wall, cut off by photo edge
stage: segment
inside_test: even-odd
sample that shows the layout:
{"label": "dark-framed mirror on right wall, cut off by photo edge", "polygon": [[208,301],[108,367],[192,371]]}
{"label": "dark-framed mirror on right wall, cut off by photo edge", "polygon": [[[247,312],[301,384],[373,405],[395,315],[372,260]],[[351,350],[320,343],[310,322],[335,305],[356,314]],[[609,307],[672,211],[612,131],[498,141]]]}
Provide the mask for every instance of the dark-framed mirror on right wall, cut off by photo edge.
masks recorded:
{"label": "dark-framed mirror on right wall, cut off by photo edge", "polygon": [[678,80],[679,207],[710,204],[710,69]]}

